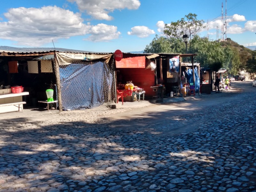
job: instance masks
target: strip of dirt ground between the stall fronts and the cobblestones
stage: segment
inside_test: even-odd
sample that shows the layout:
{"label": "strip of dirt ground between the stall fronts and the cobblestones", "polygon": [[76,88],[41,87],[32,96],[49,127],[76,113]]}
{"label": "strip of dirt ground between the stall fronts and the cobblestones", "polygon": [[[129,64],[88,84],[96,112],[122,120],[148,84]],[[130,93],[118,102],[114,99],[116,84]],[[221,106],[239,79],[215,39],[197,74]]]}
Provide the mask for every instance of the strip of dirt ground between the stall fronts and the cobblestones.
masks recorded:
{"label": "strip of dirt ground between the stall fronts and the cobblestones", "polygon": [[[108,108],[104,105],[85,110],[63,111],[50,110],[46,108],[38,109],[23,109],[23,112],[11,112],[0,114],[0,123],[8,122],[63,122],[83,120],[87,123],[97,122],[101,119],[133,119],[143,116],[147,118],[146,114],[154,114],[158,112],[168,111],[175,115],[189,113],[206,106],[218,106],[218,103],[227,102],[228,100],[238,100],[239,94],[242,92],[256,92],[256,88],[252,87],[252,80],[246,82],[235,81],[232,83],[231,90],[215,93],[214,91],[207,95],[189,96],[185,98],[164,98],[162,103],[156,103],[152,100],[144,100],[141,102],[124,102],[122,106],[119,102],[116,109]],[[165,113],[161,113],[165,116]],[[169,115],[169,113],[166,113]],[[148,116],[150,117],[150,116]],[[161,117],[159,117],[161,118]]]}

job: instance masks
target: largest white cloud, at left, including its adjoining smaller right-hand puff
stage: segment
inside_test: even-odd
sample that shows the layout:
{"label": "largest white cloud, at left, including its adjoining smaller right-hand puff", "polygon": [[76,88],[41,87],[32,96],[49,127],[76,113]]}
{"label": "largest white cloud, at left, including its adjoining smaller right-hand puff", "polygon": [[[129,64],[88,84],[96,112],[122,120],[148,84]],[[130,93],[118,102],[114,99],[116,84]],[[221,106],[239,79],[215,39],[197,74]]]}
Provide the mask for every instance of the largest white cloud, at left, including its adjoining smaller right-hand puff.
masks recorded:
{"label": "largest white cloud, at left, including its adjoining smaller right-hand puff", "polygon": [[[60,38],[70,36],[88,35],[88,39],[108,39],[116,38],[120,32],[116,32],[115,26],[102,25],[98,29],[90,23],[83,23],[80,13],[74,13],[57,6],[45,6],[42,8],[12,8],[4,13],[7,22],[0,22],[0,37],[16,41],[23,46],[42,46],[57,41]],[[105,31],[105,32],[104,32]],[[112,32],[112,33],[111,33]],[[106,35],[103,37],[103,35]],[[95,38],[95,36],[100,36]]]}

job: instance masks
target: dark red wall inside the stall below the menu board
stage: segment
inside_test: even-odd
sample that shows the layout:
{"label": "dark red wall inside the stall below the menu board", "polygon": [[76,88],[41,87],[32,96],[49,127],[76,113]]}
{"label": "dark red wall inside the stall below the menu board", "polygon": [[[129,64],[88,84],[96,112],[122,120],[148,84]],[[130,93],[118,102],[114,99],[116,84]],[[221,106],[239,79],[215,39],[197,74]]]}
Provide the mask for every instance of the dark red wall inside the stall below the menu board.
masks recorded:
{"label": "dark red wall inside the stall below the menu board", "polygon": [[145,97],[152,98],[153,89],[150,86],[155,85],[154,71],[145,68],[117,68],[116,70],[120,71],[124,83],[132,81],[134,86],[138,86],[146,91]]}

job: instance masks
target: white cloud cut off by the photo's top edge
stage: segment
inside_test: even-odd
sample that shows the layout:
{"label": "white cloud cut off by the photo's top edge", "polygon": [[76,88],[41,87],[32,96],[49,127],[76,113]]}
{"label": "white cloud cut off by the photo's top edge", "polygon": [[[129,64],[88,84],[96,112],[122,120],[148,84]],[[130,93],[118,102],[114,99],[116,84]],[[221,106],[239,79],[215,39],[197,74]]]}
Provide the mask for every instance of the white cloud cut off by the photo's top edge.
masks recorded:
{"label": "white cloud cut off by the photo's top edge", "polygon": [[115,9],[138,9],[140,7],[139,0],[68,0],[75,2],[80,11],[86,11],[88,15],[98,20],[112,20],[109,12]]}

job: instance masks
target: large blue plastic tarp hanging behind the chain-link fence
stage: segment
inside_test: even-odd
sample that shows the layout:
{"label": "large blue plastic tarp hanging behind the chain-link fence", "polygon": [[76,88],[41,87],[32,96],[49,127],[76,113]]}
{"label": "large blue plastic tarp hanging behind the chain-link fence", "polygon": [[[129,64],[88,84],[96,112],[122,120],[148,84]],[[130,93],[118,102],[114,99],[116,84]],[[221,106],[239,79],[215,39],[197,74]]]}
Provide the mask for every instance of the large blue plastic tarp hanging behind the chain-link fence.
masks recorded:
{"label": "large blue plastic tarp hanging behind the chain-link fence", "polygon": [[112,75],[104,65],[97,62],[91,65],[70,64],[60,68],[63,109],[94,108],[105,102],[104,92],[108,93],[112,86]]}

